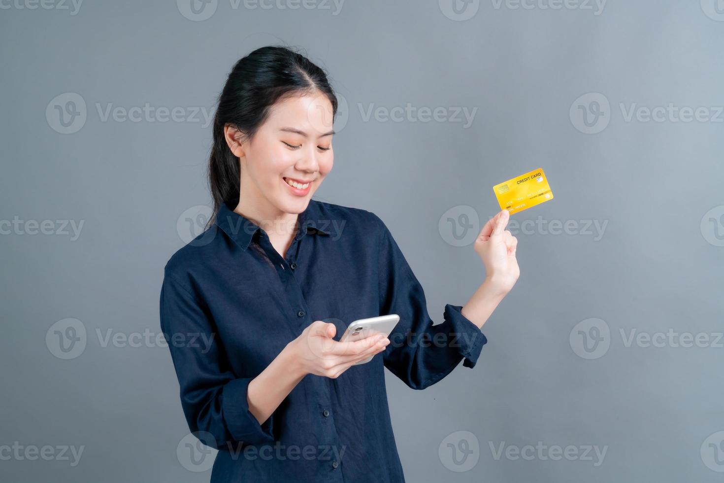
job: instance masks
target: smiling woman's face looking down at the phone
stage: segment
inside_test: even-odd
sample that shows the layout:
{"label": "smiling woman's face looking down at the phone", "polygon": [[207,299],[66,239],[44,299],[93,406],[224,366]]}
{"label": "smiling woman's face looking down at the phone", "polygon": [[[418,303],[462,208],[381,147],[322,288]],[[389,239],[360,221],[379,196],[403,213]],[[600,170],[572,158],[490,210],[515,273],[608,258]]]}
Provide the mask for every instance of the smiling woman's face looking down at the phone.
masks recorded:
{"label": "smiling woman's face looking down at the phone", "polygon": [[332,170],[332,121],[332,103],[319,91],[277,101],[240,146],[241,196],[251,190],[287,213],[304,211]]}

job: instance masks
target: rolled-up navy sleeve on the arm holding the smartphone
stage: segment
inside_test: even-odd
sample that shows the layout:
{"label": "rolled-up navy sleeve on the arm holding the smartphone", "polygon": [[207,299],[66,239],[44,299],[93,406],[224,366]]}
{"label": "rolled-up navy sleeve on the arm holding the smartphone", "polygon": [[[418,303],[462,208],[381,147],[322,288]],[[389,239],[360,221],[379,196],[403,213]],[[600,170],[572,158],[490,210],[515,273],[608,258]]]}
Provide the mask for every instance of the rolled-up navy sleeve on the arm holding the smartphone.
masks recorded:
{"label": "rolled-up navy sleeve on the arm holding the smartphone", "polygon": [[247,390],[253,378],[232,374],[201,297],[166,272],[159,308],[191,432],[217,449],[228,442],[273,443],[274,414],[259,424],[249,411]]}

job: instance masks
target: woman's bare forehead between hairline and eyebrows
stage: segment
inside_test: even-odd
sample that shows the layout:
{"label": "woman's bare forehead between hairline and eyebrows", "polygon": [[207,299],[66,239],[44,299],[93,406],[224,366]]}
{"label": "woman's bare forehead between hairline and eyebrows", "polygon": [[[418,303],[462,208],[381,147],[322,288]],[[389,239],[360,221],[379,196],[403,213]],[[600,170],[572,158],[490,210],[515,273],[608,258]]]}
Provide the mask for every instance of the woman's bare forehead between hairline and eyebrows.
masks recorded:
{"label": "woman's bare forehead between hairline and eyebrows", "polygon": [[332,102],[320,91],[282,96],[269,109],[266,122],[274,129],[295,127],[311,133],[327,133],[332,123]]}

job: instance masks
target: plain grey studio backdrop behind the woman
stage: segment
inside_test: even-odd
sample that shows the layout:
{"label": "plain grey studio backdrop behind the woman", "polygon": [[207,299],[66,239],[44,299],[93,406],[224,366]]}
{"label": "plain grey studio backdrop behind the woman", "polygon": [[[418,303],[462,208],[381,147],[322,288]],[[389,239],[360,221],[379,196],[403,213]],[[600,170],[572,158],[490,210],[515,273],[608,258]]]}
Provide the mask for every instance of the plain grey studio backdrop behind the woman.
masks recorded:
{"label": "plain grey studio backdrop behind the woman", "polygon": [[[75,466],[21,451],[0,460],[0,479],[209,479],[177,455],[188,428],[168,349],[104,347],[96,331],[159,332],[162,269],[189,235],[177,221],[209,204],[211,130],[193,120],[104,121],[96,105],[212,111],[237,59],[284,42],[306,49],[348,102],[334,169],[316,198],[382,217],[435,322],[484,279],[469,237],[499,209],[492,186],[542,167],[555,194],[513,215],[539,221],[514,231],[521,278],[484,326],[479,365],[461,364],[422,392],[387,373],[407,480],[722,481],[724,448],[710,445],[724,430],[724,348],[714,343],[724,308],[724,16],[714,0],[610,0],[599,14],[580,2],[516,9],[487,0],[468,4],[468,16],[477,10],[467,20],[435,0],[347,0],[337,14],[334,4],[234,9],[219,0],[202,21],[174,1],[87,1],[76,14],[72,4],[24,5],[0,9],[0,223],[54,228],[33,235],[32,224],[0,225],[0,446],[84,450]],[[53,101],[64,93],[86,104],[75,133],[59,133],[58,118],[45,115],[64,106],[67,98]],[[598,133],[581,132],[569,115],[595,109],[591,96],[576,101],[587,93],[610,103]],[[363,115],[407,103],[477,111],[469,127]],[[634,104],[702,107],[715,119],[627,122]],[[455,246],[447,218],[469,214],[479,223],[455,225],[468,234]],[[84,223],[77,240],[58,220]],[[545,228],[552,222],[578,228],[554,234]],[[606,222],[605,232],[587,234],[587,222]],[[46,333],[67,318],[87,335],[85,350],[64,360]],[[591,318],[610,330],[593,352],[577,327]],[[704,334],[710,343],[627,347],[632,329]],[[463,465],[450,441],[473,448]],[[607,453],[599,466],[595,456],[496,459],[491,445],[503,442]]]}

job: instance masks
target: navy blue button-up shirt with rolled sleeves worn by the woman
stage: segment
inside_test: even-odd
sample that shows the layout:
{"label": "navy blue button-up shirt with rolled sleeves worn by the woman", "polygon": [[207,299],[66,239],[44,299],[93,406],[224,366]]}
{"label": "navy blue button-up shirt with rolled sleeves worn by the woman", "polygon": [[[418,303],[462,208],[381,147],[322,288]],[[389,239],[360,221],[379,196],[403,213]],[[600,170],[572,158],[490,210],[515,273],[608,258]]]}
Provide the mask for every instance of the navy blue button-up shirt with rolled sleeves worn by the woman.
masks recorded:
{"label": "navy blue button-up shirt with rolled sleeves worn by the woman", "polygon": [[[473,367],[485,336],[447,304],[430,319],[423,289],[382,219],[311,200],[282,257],[266,232],[222,206],[171,257],[161,329],[188,426],[218,448],[211,482],[404,482],[384,367],[413,389]],[[259,424],[247,387],[303,329],[398,314],[390,344],[336,379],[307,374]]]}

